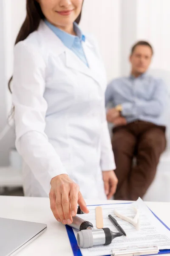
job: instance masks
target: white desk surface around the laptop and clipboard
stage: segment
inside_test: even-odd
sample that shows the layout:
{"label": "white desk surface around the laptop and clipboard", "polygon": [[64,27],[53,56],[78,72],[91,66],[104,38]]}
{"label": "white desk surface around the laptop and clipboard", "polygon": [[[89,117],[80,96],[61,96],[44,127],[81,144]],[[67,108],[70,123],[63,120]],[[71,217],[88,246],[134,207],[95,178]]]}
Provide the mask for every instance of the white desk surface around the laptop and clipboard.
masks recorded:
{"label": "white desk surface around the laptop and clipboard", "polygon": [[[111,204],[113,201],[92,201],[89,204]],[[170,203],[147,202],[156,215],[170,227]],[[47,224],[47,230],[17,256],[73,256],[65,226],[58,223],[48,198],[0,196],[0,217]],[[170,254],[169,254],[170,255]]]}

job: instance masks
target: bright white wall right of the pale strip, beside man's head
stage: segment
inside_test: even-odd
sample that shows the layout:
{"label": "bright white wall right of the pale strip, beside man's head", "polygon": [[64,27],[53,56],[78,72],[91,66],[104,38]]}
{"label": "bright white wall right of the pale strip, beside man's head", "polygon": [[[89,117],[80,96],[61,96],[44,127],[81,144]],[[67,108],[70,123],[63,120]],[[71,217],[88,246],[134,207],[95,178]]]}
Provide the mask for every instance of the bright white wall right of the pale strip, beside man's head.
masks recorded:
{"label": "bright white wall right of the pale strip, beside man's head", "polygon": [[138,0],[136,37],[153,45],[151,67],[170,71],[170,0]]}

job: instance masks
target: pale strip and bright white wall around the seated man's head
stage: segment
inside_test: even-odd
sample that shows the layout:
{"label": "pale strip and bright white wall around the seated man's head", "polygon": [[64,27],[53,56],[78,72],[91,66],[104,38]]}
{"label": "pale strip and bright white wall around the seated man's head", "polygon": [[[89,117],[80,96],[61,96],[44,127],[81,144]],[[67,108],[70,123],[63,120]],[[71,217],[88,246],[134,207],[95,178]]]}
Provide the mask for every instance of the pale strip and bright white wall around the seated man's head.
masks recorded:
{"label": "pale strip and bright white wall around the seated man's head", "polygon": [[170,0],[122,0],[123,10],[122,75],[129,73],[130,47],[139,40],[153,45],[155,53],[151,68],[170,70]]}

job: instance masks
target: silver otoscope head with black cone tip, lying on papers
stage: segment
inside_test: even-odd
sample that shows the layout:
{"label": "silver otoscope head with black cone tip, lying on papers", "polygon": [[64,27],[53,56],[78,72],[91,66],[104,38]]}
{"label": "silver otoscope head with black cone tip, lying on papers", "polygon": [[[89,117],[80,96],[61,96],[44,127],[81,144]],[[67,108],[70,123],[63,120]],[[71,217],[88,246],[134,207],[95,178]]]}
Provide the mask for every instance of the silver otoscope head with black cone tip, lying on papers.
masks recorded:
{"label": "silver otoscope head with black cone tip, lying on papers", "polygon": [[109,228],[97,230],[81,230],[77,234],[79,247],[89,248],[96,245],[108,245],[116,237],[123,236],[122,233],[114,233]]}

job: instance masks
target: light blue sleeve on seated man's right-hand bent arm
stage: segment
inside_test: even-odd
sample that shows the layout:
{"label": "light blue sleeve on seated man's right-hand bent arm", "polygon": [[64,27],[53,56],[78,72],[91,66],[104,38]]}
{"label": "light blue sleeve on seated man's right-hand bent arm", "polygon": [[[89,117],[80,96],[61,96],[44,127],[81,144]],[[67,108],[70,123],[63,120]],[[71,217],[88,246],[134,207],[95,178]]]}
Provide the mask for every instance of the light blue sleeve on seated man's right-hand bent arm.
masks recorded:
{"label": "light blue sleeve on seated man's right-hand bent arm", "polygon": [[167,88],[164,81],[156,81],[155,90],[151,99],[135,98],[133,102],[122,104],[123,116],[153,116],[158,117],[164,111],[167,102]]}

